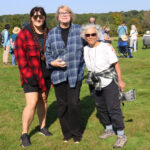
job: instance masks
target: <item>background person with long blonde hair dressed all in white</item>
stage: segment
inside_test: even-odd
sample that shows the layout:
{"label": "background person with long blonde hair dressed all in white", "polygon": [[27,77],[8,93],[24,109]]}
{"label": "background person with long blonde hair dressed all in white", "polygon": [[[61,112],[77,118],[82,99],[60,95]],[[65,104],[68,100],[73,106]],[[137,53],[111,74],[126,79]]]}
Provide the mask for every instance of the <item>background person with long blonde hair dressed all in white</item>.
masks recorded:
{"label": "background person with long blonde hair dressed all in white", "polygon": [[130,30],[130,47],[133,47],[133,51],[136,52],[136,46],[137,46],[137,36],[138,32],[135,25],[131,25]]}

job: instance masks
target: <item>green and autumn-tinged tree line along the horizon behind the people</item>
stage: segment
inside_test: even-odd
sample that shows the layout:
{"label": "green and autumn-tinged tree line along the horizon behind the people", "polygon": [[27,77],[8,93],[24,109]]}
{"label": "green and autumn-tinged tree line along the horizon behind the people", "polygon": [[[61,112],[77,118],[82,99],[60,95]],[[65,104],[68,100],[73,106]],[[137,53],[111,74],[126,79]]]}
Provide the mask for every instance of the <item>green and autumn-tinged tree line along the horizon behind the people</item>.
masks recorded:
{"label": "green and autumn-tinged tree line along the horizon behind the people", "polygon": [[[123,20],[126,21],[128,29],[132,24],[137,27],[139,35],[143,35],[145,31],[150,30],[150,10],[137,11],[131,10],[127,12],[109,12],[109,13],[88,13],[88,14],[75,14],[74,23],[86,24],[90,17],[96,18],[96,23],[101,26],[109,26],[111,29],[110,35],[117,36],[117,27]],[[0,16],[0,31],[6,23],[10,24],[10,33],[14,26],[22,28],[23,23],[29,23],[29,14],[16,14],[16,15],[3,15]],[[54,13],[47,14],[47,26],[49,29],[57,25]]]}

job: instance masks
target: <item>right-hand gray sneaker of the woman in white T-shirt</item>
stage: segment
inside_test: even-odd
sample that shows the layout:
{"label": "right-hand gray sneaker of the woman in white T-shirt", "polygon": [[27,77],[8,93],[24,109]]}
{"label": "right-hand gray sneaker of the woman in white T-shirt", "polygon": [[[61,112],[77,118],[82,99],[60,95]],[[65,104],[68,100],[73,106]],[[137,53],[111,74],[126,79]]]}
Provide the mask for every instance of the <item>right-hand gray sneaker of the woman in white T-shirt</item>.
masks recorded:
{"label": "right-hand gray sneaker of the woman in white T-shirt", "polygon": [[118,136],[113,148],[122,148],[127,143],[127,137],[125,135]]}

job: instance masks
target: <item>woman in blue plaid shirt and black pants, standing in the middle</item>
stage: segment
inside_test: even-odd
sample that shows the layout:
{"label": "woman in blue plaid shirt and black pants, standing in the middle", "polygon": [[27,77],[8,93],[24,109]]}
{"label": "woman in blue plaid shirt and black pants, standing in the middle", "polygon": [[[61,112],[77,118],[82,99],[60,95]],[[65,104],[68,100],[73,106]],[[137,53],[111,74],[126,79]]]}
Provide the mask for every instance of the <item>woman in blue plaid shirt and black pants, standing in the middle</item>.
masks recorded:
{"label": "woman in blue plaid shirt and black pants, standing in the middle", "polygon": [[68,6],[60,6],[56,16],[59,25],[48,33],[46,63],[53,70],[51,80],[64,142],[73,138],[79,143],[82,138],[79,96],[85,68],[81,27],[72,23],[74,14]]}

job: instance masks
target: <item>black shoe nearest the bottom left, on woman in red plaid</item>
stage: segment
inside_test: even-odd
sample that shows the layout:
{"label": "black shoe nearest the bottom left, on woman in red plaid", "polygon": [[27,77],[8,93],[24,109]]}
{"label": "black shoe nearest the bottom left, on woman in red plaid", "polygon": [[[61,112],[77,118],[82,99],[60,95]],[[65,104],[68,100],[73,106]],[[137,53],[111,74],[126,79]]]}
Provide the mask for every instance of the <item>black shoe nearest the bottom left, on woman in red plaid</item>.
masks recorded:
{"label": "black shoe nearest the bottom left, on woman in red plaid", "polygon": [[27,133],[24,133],[20,137],[22,147],[27,147],[31,145],[30,138]]}

